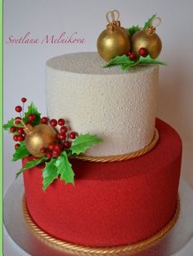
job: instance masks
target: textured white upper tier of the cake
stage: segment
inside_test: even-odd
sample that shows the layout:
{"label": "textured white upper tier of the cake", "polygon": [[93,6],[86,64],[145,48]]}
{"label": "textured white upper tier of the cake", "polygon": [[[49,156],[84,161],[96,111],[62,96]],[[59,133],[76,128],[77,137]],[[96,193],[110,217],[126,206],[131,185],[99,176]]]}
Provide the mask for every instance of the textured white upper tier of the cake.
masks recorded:
{"label": "textured white upper tier of the cake", "polygon": [[155,129],[159,67],[102,68],[97,53],[71,53],[47,61],[47,115],[104,142],[92,156],[130,153],[150,143]]}

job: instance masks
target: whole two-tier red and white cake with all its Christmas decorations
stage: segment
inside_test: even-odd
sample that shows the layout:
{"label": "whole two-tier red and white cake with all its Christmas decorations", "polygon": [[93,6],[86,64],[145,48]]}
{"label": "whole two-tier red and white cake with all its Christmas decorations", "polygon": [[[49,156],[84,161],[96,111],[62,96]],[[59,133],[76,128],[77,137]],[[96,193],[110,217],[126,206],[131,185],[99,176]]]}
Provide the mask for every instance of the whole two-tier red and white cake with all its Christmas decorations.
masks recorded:
{"label": "whole two-tier red and white cake with all its Christmas decorations", "polygon": [[106,18],[101,57],[47,61],[47,117],[34,103],[24,112],[21,98],[20,117],[4,125],[17,142],[13,161],[23,161],[16,176],[24,175],[30,229],[76,255],[128,255],[166,234],[179,214],[182,141],[156,118],[161,19],[124,29],[119,11]]}

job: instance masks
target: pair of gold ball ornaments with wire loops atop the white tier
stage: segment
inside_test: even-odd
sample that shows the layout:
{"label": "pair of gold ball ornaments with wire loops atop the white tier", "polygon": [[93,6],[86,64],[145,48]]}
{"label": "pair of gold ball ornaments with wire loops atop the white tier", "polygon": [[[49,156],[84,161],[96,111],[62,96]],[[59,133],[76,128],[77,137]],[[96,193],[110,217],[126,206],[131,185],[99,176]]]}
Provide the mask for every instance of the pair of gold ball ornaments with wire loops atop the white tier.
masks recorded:
{"label": "pair of gold ball ornaments with wire loops atop the white tier", "polygon": [[[116,19],[115,16],[117,16]],[[155,16],[147,28],[145,25],[144,29],[138,30],[132,36],[128,30],[120,26],[119,11],[108,11],[106,20],[108,21],[106,29],[101,32],[97,39],[98,53],[106,62],[117,56],[126,55],[129,57],[131,53],[136,60],[140,56],[146,57],[148,54],[152,59],[159,56],[162,42],[159,35],[155,33],[156,27],[161,22],[159,17]],[[146,50],[146,55],[140,53],[141,48]],[[130,59],[132,60],[132,57]]]}

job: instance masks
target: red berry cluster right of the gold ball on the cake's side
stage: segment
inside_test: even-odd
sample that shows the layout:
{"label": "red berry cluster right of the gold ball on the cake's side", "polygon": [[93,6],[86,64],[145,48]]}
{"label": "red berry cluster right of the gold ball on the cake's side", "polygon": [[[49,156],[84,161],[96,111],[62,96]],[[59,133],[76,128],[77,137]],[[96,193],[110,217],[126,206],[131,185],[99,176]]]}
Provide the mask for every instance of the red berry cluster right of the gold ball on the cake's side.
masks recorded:
{"label": "red berry cluster right of the gold ball on the cake's side", "polygon": [[41,123],[48,125],[48,123],[53,127],[61,126],[59,132],[57,133],[56,144],[50,144],[48,148],[40,149],[41,153],[44,153],[47,158],[58,158],[61,152],[65,149],[69,149],[71,146],[71,139],[75,139],[78,135],[75,131],[69,131],[67,126],[65,126],[65,119],[60,118],[58,121],[56,119],[48,120],[47,117],[41,119]]}

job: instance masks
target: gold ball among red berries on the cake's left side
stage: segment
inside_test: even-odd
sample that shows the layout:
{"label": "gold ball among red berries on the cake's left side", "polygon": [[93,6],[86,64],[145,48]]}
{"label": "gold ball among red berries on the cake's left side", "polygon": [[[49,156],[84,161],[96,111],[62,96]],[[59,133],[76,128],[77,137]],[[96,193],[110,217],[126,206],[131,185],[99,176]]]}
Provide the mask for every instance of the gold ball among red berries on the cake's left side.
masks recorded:
{"label": "gold ball among red berries on the cake's left side", "polygon": [[40,149],[47,148],[49,144],[54,144],[56,137],[56,130],[52,126],[37,125],[26,134],[25,145],[34,157],[42,158],[45,154],[41,153]]}

